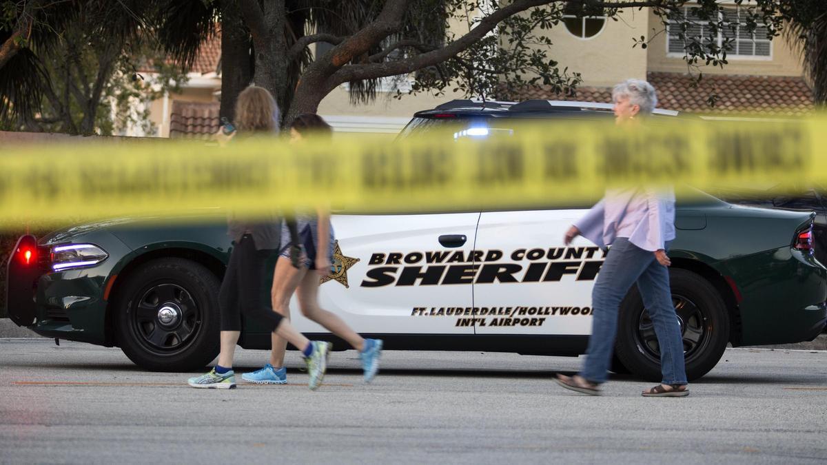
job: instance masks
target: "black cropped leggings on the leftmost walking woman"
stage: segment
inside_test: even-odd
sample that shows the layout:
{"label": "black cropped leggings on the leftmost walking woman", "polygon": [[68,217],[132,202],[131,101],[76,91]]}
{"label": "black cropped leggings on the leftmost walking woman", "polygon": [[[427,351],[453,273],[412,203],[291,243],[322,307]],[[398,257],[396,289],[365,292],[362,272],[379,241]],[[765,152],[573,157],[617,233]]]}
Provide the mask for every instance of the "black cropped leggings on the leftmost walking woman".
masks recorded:
{"label": "black cropped leggings on the leftmost walking woman", "polygon": [[[270,332],[279,327],[283,317],[273,311],[269,295],[270,283],[265,282],[267,262],[275,250],[256,250],[249,234],[232,248],[230,264],[218,292],[222,331],[241,331],[241,313],[265,324]],[[262,301],[264,300],[264,301]],[[240,311],[239,311],[240,310]]]}

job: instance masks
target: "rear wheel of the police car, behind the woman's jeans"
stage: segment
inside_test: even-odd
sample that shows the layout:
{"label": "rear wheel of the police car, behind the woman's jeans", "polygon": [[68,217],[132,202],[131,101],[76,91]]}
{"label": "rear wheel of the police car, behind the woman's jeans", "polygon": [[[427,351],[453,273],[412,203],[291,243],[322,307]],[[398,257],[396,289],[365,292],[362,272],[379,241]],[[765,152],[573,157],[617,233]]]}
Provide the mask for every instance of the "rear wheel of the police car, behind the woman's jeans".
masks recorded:
{"label": "rear wheel of the police car, behind the woman's jeans", "polygon": [[[724,300],[709,281],[691,271],[669,273],[672,303],[681,324],[689,381],[715,367],[729,340],[729,317]],[[624,367],[648,381],[662,381],[660,347],[652,320],[633,286],[620,304],[614,352]]]}

